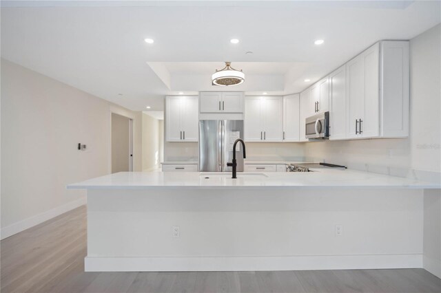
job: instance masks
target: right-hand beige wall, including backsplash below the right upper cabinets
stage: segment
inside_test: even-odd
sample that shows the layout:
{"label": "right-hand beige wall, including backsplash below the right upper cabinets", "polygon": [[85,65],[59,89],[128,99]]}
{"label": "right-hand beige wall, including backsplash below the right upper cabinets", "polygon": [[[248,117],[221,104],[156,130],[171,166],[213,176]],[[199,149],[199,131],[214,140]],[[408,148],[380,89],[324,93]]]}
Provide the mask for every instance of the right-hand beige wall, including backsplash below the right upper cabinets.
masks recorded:
{"label": "right-hand beige wall, including backsplash below the right upper cabinets", "polygon": [[410,43],[409,138],[308,142],[305,155],[391,175],[406,176],[409,169],[441,172],[440,34],[437,25]]}

